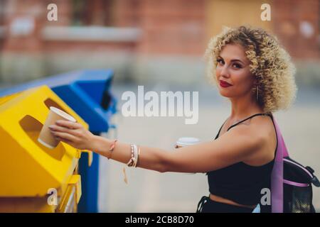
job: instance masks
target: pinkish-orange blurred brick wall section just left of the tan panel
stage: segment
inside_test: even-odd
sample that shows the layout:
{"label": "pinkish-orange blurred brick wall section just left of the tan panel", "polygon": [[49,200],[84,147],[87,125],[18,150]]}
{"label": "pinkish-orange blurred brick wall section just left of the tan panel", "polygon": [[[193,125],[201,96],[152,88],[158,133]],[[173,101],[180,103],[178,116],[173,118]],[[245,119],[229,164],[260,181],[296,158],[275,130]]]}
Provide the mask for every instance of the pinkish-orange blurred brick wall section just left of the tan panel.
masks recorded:
{"label": "pinkish-orange blurred brick wall section just left of the tan panel", "polygon": [[139,52],[202,55],[206,46],[203,0],[144,1]]}

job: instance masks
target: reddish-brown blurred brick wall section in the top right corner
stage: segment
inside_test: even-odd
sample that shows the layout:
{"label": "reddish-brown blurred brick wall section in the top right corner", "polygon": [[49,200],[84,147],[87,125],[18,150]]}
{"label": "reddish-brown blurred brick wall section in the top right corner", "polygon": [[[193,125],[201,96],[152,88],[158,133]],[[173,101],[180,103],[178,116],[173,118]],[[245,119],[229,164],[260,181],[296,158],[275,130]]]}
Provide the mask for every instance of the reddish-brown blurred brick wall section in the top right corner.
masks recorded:
{"label": "reddish-brown blurred brick wall section in the top right corner", "polygon": [[319,0],[273,1],[274,33],[298,59],[319,59]]}

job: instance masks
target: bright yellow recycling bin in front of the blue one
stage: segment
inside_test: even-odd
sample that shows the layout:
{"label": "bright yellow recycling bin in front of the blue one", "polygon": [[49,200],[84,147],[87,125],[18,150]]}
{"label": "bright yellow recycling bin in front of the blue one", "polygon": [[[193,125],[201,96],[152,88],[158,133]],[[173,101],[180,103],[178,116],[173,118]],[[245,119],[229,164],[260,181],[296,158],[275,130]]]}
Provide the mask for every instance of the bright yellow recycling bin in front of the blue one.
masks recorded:
{"label": "bright yellow recycling bin in front of the blue one", "polygon": [[63,142],[49,149],[37,141],[50,106],[88,128],[47,86],[0,98],[0,212],[77,211],[82,151]]}

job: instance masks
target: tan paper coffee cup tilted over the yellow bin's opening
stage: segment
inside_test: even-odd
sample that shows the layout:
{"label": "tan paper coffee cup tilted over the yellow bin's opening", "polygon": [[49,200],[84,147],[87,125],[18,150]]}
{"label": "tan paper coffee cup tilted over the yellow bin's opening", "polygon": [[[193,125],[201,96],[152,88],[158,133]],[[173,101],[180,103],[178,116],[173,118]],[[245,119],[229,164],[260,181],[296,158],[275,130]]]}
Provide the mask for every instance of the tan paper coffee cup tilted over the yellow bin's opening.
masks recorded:
{"label": "tan paper coffee cup tilted over the yellow bin's opening", "polygon": [[50,132],[50,128],[48,128],[48,126],[54,125],[55,121],[58,121],[58,120],[67,120],[67,121],[76,122],[73,116],[70,116],[69,114],[65,113],[64,111],[58,108],[50,106],[50,111],[46,118],[46,122],[44,123],[38,137],[38,142],[46,146],[47,148],[53,149],[59,143],[59,141],[55,140],[53,134]]}

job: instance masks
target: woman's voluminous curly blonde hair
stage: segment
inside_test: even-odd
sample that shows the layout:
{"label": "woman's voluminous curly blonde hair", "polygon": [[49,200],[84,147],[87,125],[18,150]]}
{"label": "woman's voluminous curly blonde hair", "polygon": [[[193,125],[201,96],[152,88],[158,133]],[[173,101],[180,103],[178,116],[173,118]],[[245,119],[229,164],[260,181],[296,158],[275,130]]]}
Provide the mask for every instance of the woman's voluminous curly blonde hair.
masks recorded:
{"label": "woman's voluminous curly blonde hair", "polygon": [[245,55],[250,60],[250,72],[257,79],[257,86],[252,88],[252,92],[256,94],[258,87],[258,104],[263,111],[287,109],[297,93],[295,67],[277,38],[262,28],[225,27],[222,33],[210,39],[205,53],[208,77],[214,78],[215,82],[217,57],[227,44],[240,44],[245,48]]}

